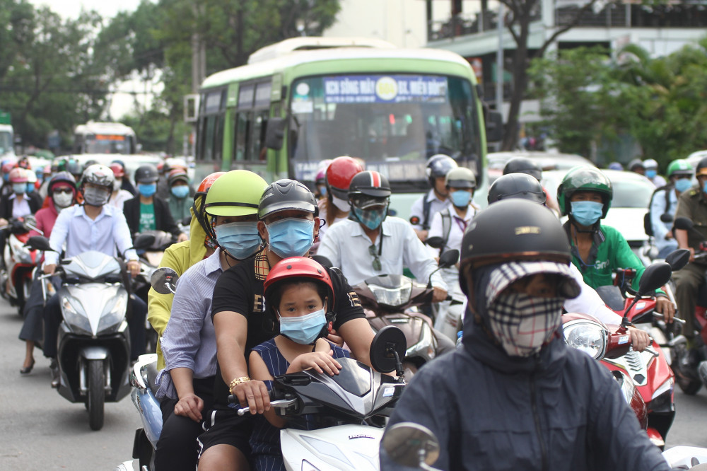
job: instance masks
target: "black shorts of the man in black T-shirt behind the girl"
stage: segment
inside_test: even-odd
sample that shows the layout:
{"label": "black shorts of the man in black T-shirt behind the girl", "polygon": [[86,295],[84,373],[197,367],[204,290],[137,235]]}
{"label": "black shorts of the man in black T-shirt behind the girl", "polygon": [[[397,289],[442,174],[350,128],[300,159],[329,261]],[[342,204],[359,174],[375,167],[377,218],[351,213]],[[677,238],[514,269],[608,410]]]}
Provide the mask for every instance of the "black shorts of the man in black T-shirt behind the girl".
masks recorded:
{"label": "black shorts of the man in black T-shirt behind the girl", "polygon": [[235,409],[216,406],[208,417],[204,417],[204,433],[199,435],[199,458],[204,451],[216,445],[230,445],[238,448],[250,461],[250,434],[253,431],[253,417],[250,413],[239,416]]}

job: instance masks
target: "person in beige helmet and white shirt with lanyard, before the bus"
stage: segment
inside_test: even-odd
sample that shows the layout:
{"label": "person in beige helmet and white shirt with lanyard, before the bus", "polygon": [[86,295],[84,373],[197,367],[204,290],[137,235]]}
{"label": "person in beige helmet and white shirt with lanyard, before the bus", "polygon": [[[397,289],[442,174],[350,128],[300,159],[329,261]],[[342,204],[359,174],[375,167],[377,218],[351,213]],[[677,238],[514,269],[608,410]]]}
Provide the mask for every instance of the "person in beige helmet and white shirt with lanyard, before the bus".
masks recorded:
{"label": "person in beige helmet and white shirt with lanyard, before the bus", "polygon": [[433,216],[451,206],[445,187],[445,177],[452,168],[457,166],[457,161],[443,153],[428,158],[425,171],[432,189],[419,197],[410,208],[410,223],[420,240],[427,239]]}

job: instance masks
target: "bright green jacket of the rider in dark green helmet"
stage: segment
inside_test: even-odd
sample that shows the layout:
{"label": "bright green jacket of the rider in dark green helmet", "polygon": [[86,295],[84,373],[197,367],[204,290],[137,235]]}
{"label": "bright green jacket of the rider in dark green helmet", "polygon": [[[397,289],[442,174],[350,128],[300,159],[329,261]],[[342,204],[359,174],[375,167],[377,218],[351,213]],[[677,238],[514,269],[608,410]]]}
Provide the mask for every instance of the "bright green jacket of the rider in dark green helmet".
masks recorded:
{"label": "bright green jacket of the rider in dark green helmet", "polygon": [[[569,221],[564,225],[565,231],[570,235]],[[599,286],[614,284],[612,274],[619,268],[636,269],[636,277],[631,281],[631,288],[638,290],[638,282],[645,267],[641,260],[633,253],[629,243],[624,236],[611,226],[599,226],[599,231],[595,233],[592,249],[589,253],[589,260],[583,260],[579,256],[579,251],[569,237],[572,248],[572,263],[582,272],[584,282],[594,289]],[[662,291],[656,291],[662,293]]]}

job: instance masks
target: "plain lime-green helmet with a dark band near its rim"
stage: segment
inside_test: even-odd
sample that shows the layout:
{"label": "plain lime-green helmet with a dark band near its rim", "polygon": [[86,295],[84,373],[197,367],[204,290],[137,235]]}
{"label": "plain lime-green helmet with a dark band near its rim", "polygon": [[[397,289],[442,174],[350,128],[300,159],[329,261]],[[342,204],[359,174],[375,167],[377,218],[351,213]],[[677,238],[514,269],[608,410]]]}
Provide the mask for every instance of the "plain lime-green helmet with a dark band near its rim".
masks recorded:
{"label": "plain lime-green helmet with a dark band near its rim", "polygon": [[204,210],[211,216],[257,214],[267,182],[250,170],[231,170],[216,178],[206,193]]}

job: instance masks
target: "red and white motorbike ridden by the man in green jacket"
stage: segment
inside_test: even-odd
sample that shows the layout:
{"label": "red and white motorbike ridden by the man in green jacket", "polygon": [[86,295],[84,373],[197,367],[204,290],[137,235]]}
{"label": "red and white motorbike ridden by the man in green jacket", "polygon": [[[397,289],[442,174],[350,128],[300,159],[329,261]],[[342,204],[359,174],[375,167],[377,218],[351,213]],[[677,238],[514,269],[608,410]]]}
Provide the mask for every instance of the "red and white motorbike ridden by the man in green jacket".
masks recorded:
{"label": "red and white motorbike ridden by the man in green jacket", "polygon": [[[638,352],[629,349],[626,354],[616,358],[606,358],[603,361],[609,369],[622,371],[633,380],[636,390],[640,392],[648,409],[648,436],[661,448],[665,446],[665,437],[675,418],[675,376],[670,368],[670,354],[666,356],[660,343],[656,341],[660,332],[650,330],[652,323],[657,322],[654,317],[655,296],[647,296],[647,294],[665,285],[670,280],[673,269],[682,268],[679,265],[681,263],[684,265],[686,262],[684,258],[684,253],[677,252],[666,259],[672,264],[667,262],[650,264],[641,277],[640,286],[643,288],[639,288],[638,291],[631,289],[631,280],[636,275],[635,270],[624,269],[617,270],[613,286],[600,286],[597,289],[597,293],[607,306],[623,316],[622,326],[640,327],[647,323],[646,329],[653,335],[650,345],[645,350]],[[658,276],[661,274],[662,279]]]}

